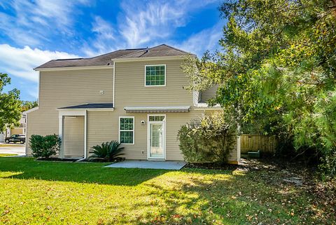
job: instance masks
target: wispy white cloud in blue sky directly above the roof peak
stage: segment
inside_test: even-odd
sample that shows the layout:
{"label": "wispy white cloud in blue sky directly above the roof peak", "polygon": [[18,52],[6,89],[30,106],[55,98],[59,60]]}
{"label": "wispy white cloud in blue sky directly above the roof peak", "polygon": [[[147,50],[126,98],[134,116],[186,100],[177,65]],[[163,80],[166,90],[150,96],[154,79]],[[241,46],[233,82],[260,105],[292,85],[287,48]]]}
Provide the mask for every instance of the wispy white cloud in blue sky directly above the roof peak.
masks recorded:
{"label": "wispy white cloud in blue sky directly above the roof peak", "polygon": [[167,43],[174,37],[176,29],[186,26],[192,19],[190,13],[214,2],[218,0],[122,1],[118,25],[111,25],[103,18],[96,17],[92,22],[95,38],[85,43],[82,50],[92,56],[120,48],[143,48]]}

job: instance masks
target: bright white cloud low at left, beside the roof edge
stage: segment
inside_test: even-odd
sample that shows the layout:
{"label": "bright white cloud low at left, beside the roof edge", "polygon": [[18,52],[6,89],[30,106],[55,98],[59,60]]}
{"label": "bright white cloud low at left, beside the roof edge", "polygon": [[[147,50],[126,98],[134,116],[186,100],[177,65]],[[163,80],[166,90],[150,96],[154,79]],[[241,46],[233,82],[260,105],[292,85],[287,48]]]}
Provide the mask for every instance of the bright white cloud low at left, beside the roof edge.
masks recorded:
{"label": "bright white cloud low at left, beside the roof edge", "polygon": [[35,67],[60,58],[73,58],[78,55],[72,55],[64,52],[52,52],[49,50],[14,48],[8,44],[0,45],[0,71],[10,76],[18,76],[29,81],[38,82],[38,72],[34,71]]}

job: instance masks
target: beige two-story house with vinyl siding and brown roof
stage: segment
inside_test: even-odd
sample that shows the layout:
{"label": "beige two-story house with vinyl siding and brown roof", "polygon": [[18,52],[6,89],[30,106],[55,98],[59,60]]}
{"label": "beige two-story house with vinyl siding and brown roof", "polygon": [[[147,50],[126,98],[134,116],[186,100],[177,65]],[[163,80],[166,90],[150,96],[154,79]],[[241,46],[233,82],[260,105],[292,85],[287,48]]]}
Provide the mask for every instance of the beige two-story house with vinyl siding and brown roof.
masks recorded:
{"label": "beige two-story house with vinyl siding and brown roof", "polygon": [[[39,104],[27,111],[27,138],[57,134],[59,157],[86,158],[91,146],[118,140],[125,157],[183,160],[176,139],[181,125],[220,108],[183,89],[183,56],[167,45],[117,50],[92,58],[51,60],[39,71]],[[27,154],[30,155],[29,144]],[[239,148],[230,161],[239,161]]]}

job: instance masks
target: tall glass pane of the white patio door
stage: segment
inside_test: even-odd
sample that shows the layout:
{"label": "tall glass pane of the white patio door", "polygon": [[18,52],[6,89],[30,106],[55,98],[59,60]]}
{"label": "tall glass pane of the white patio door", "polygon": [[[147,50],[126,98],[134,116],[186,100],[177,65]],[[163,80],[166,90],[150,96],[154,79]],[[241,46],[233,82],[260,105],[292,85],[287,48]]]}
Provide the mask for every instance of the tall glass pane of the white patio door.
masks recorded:
{"label": "tall glass pane of the white patio door", "polygon": [[151,124],[151,157],[163,156],[162,124]]}

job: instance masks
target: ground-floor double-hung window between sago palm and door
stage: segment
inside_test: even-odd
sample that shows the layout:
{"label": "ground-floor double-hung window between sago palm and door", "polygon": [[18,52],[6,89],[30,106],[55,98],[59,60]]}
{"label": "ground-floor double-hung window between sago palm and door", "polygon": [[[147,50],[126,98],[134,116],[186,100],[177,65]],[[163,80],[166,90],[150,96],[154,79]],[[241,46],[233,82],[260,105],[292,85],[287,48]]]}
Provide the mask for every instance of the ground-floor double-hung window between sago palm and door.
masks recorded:
{"label": "ground-floor double-hung window between sago palm and door", "polygon": [[121,144],[134,144],[133,116],[123,116],[119,118],[119,142]]}

